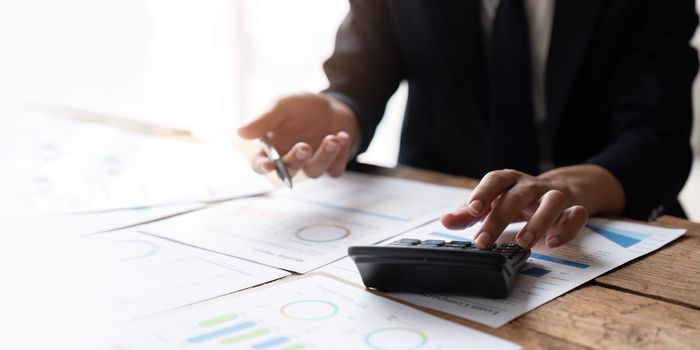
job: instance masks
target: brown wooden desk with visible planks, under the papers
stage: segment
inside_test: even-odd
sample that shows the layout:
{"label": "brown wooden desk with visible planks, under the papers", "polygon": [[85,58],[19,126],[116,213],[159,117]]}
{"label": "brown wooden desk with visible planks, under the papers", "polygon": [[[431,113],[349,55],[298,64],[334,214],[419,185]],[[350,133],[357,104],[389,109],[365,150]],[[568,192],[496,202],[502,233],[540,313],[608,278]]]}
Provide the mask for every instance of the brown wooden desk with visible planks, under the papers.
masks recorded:
{"label": "brown wooden desk with visible planks, under the papers", "polygon": [[[363,170],[467,188],[477,184],[406,167]],[[670,216],[653,224],[688,232],[501,328],[417,308],[527,349],[700,349],[700,224]]]}

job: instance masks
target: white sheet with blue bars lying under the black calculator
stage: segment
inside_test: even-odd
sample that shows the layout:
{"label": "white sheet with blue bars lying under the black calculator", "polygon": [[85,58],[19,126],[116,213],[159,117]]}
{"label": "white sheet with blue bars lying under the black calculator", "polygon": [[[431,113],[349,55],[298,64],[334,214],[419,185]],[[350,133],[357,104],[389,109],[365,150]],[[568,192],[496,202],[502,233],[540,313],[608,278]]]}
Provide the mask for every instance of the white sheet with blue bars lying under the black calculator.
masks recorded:
{"label": "white sheet with blue bars lying under the black calculator", "polygon": [[[508,227],[505,236],[516,234],[522,223]],[[400,238],[470,240],[477,227],[447,231],[435,222]],[[559,248],[538,243],[518,274],[508,298],[488,299],[436,293],[391,293],[409,303],[447,312],[490,327],[500,327],[518,316],[628,261],[648,254],[685,233],[684,229],[661,228],[623,221],[592,218],[575,240]],[[394,239],[383,244],[389,244]],[[362,284],[350,258],[344,258],[319,271]],[[453,276],[454,277],[454,276]],[[465,283],[478,283],[465,279]]]}

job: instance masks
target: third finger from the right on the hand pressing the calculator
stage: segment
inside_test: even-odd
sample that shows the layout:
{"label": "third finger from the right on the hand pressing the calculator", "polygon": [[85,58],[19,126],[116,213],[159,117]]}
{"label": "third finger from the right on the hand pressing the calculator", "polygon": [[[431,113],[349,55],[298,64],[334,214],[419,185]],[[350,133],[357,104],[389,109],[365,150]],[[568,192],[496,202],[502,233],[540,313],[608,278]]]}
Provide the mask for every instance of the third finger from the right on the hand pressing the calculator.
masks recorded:
{"label": "third finger from the right on the hand pressing the calculator", "polygon": [[496,241],[505,228],[539,197],[539,184],[530,182],[515,186],[501,195],[496,205],[484,219],[475,235],[478,248],[488,248]]}

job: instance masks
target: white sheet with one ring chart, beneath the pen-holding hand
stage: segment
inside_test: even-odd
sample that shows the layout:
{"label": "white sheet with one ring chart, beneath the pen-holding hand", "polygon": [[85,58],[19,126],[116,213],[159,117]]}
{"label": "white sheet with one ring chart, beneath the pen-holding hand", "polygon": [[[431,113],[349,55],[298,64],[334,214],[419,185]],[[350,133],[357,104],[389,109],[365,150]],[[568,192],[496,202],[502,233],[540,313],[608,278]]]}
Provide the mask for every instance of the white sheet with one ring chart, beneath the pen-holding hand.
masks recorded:
{"label": "white sheet with one ring chart, beneath the pen-holding hand", "polygon": [[468,190],[347,174],[146,225],[144,232],[305,273],[453,210]]}

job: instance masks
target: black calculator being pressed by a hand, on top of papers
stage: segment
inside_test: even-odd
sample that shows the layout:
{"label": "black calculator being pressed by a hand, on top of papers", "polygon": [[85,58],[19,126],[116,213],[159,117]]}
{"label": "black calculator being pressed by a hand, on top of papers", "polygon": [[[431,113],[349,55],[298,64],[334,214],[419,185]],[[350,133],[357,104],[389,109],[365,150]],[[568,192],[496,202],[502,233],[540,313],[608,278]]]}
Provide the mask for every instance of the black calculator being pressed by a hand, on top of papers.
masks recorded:
{"label": "black calculator being pressed by a hand, on top of papers", "polygon": [[530,249],[497,243],[402,238],[386,246],[348,249],[368,288],[386,292],[453,293],[504,298]]}

